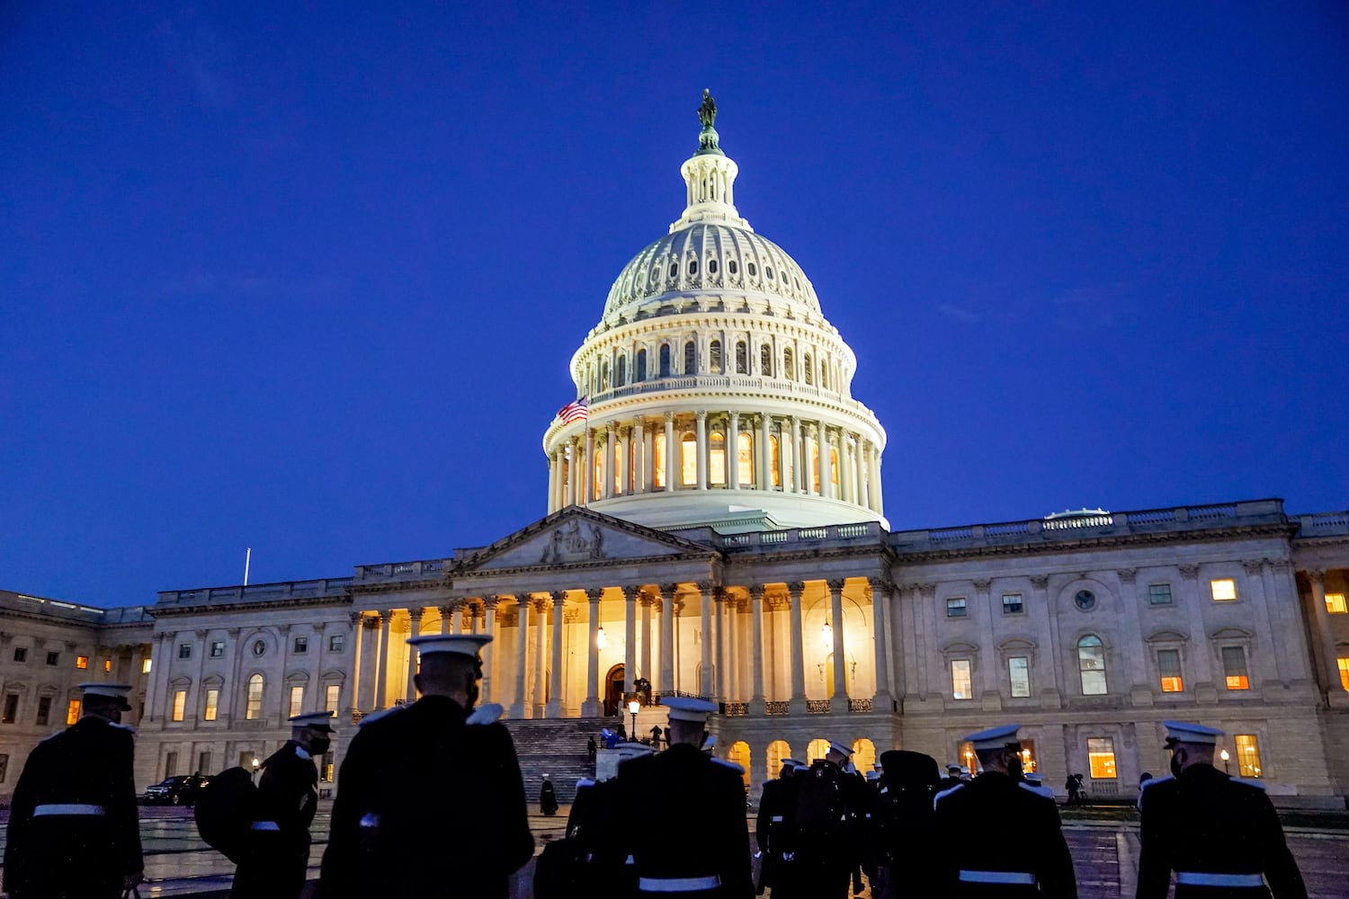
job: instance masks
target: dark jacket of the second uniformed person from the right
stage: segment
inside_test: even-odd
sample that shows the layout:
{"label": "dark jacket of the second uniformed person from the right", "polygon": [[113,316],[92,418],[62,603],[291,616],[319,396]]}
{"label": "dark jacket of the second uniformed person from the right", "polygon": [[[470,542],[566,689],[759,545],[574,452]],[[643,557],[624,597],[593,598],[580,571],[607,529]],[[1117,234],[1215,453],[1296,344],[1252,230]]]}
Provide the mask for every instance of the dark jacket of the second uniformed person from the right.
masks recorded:
{"label": "dark jacket of the second uniformed person from the right", "polygon": [[960,871],[1033,875],[1039,894],[1077,899],[1072,857],[1063,840],[1059,807],[1000,771],[985,771],[970,783],[936,795],[938,845],[959,846],[940,857],[943,895],[1036,895],[1035,888],[967,884]]}

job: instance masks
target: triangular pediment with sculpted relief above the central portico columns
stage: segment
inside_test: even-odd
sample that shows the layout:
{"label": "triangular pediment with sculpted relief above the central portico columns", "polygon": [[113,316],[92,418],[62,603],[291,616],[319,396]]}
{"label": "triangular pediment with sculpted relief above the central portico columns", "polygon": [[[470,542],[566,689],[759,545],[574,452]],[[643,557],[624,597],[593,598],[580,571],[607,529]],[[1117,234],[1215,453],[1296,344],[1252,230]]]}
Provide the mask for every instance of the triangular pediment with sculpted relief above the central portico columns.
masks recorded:
{"label": "triangular pediment with sculpted relief above the central portico columns", "polygon": [[625,559],[708,557],[718,550],[664,531],[572,505],[478,550],[456,573],[584,565]]}

